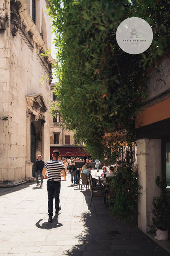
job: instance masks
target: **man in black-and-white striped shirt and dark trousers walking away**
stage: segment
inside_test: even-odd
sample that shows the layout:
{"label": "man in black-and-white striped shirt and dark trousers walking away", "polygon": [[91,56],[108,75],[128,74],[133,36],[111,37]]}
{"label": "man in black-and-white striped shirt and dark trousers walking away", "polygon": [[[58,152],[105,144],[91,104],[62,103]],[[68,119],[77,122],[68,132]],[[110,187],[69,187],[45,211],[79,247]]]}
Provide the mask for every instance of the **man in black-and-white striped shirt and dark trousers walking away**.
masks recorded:
{"label": "man in black-and-white striped shirt and dark trousers walking away", "polygon": [[[53,159],[47,161],[43,170],[42,175],[45,177],[45,171],[48,172],[47,180],[47,192],[48,192],[48,222],[52,222],[53,216],[53,199],[55,199],[56,214],[61,210],[60,204],[60,187],[61,187],[61,176],[66,176],[65,166],[62,162],[58,161],[60,152],[56,149],[52,153]],[[62,173],[61,173],[62,172]]]}

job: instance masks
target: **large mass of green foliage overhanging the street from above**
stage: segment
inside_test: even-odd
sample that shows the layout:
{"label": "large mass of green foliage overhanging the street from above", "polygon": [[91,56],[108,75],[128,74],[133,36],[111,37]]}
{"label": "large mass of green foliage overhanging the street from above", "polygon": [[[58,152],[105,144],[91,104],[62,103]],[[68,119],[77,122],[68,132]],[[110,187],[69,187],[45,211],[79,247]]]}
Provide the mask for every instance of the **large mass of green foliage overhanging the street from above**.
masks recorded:
{"label": "large mass of green foliage overhanging the street from above", "polygon": [[[92,157],[103,160],[106,131],[123,127],[134,141],[134,118],[145,97],[143,75],[168,48],[170,1],[49,0],[49,5],[60,114]],[[139,55],[124,53],[116,43],[117,27],[132,16],[148,21],[154,33],[150,48]]]}

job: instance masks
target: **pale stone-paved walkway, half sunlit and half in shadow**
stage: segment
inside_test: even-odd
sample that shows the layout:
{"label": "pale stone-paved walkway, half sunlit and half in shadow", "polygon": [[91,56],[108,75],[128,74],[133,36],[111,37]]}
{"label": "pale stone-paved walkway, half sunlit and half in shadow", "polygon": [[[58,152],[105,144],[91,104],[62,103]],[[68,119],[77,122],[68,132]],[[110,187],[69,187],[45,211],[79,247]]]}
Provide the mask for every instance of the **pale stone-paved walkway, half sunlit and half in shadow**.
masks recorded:
{"label": "pale stone-paved walkway, half sunlit and half in shadow", "polygon": [[47,180],[0,188],[0,256],[169,256],[134,224],[110,216],[103,198],[62,181],[58,215],[47,222]]}

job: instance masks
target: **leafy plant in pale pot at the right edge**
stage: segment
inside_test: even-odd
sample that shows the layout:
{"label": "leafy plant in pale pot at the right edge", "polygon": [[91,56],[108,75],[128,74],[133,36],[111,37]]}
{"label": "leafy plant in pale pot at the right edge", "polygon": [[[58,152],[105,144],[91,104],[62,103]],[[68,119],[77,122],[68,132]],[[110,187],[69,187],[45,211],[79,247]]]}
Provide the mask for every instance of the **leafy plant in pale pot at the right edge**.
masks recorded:
{"label": "leafy plant in pale pot at the right edge", "polygon": [[153,217],[153,227],[156,230],[156,236],[154,237],[157,240],[168,240],[168,229],[170,228],[170,206],[168,200],[166,199],[165,194],[163,194],[164,189],[166,188],[165,178],[160,178],[157,176],[156,184],[161,188],[160,197],[154,197],[152,210]]}

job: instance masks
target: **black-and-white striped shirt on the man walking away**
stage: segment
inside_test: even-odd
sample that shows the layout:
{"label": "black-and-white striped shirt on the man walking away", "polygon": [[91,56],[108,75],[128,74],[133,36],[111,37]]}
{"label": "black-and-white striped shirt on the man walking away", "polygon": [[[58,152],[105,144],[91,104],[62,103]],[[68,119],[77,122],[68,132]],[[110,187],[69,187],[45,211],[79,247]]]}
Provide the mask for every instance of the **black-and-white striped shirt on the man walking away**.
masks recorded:
{"label": "black-and-white striped shirt on the man walking away", "polygon": [[44,168],[48,172],[48,181],[61,181],[60,173],[65,169],[62,162],[50,160],[45,163]]}

